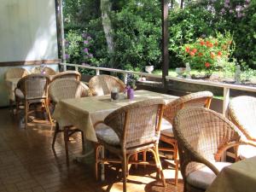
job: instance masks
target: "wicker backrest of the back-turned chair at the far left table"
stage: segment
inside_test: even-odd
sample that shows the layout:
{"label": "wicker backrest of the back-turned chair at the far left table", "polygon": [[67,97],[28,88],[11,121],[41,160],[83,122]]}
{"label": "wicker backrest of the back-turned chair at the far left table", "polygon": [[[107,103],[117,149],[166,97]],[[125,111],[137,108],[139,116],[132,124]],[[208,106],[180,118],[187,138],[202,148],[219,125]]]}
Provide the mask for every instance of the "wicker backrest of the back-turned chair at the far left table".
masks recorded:
{"label": "wicker backrest of the back-turned chair at the far left table", "polygon": [[40,99],[47,96],[49,76],[43,74],[29,74],[19,80],[17,88],[21,90],[25,99]]}

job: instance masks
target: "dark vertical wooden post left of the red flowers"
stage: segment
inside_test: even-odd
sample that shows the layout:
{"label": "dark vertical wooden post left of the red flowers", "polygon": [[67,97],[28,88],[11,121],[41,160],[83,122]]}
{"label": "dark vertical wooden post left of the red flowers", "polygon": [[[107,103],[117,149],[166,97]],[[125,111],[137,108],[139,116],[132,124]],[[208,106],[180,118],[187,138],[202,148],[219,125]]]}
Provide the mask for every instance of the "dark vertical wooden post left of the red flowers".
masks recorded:
{"label": "dark vertical wooden post left of the red flowers", "polygon": [[168,0],[161,0],[161,20],[162,20],[162,80],[164,87],[167,87],[166,76],[169,70],[169,51],[168,51]]}

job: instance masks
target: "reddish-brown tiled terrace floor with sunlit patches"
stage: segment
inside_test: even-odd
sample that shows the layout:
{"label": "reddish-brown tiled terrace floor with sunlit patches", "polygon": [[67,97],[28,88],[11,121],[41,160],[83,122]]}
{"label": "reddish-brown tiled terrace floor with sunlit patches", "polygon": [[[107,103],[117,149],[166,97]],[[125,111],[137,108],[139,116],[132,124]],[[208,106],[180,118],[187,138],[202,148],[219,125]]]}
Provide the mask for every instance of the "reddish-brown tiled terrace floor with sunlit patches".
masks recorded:
{"label": "reddish-brown tiled terrace floor with sunlit patches", "polygon": [[[33,119],[26,130],[21,121],[8,108],[0,108],[0,192],[122,191],[118,173],[110,166],[106,168],[105,182],[96,182],[93,157],[83,163],[73,160],[82,153],[79,134],[69,143],[67,167],[62,134],[57,137],[54,153],[48,121]],[[173,173],[165,169],[167,187],[163,188],[155,180],[154,167],[131,168],[127,190],[183,191],[182,180],[177,187],[172,184]]]}

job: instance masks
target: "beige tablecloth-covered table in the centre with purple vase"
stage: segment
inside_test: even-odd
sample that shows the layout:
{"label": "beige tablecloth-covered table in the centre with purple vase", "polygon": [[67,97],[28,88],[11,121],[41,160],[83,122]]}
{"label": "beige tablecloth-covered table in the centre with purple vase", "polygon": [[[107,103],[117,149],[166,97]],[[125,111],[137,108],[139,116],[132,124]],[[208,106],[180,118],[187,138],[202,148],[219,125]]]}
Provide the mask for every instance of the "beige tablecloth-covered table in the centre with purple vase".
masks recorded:
{"label": "beige tablecloth-covered table in the centre with purple vase", "polygon": [[127,96],[123,93],[119,94],[119,99],[117,100],[112,100],[110,95],[62,100],[56,104],[53,118],[62,127],[68,125],[76,126],[84,131],[84,137],[87,140],[97,142],[94,124],[105,119],[115,109],[148,99],[163,99],[166,103],[177,99],[177,96],[148,90],[136,90],[134,93],[132,100],[127,99]]}

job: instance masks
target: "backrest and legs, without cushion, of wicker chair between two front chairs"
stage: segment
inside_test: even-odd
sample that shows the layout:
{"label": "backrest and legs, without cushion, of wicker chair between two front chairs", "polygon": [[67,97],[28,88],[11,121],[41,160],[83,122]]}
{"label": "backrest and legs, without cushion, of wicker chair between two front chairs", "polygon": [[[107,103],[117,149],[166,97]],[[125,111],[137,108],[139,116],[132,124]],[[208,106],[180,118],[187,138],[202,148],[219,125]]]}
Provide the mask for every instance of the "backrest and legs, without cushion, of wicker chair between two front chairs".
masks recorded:
{"label": "backrest and legs, without cushion, of wicker chair between two front chairs", "polygon": [[[170,124],[173,125],[173,120],[177,112],[193,104],[194,102],[204,102],[204,108],[210,108],[212,102],[212,92],[210,91],[200,91],[191,93],[186,96],[181,96],[177,100],[173,102],[169,102],[166,104],[164,108],[163,118],[166,119]],[[178,152],[177,152],[177,140],[175,137],[169,137],[164,134],[160,135],[160,141],[164,143],[169,143],[172,145],[172,148],[160,148],[160,151],[168,151],[173,153],[173,160],[175,166],[175,177],[174,177],[174,184],[177,186],[178,183]]]}

